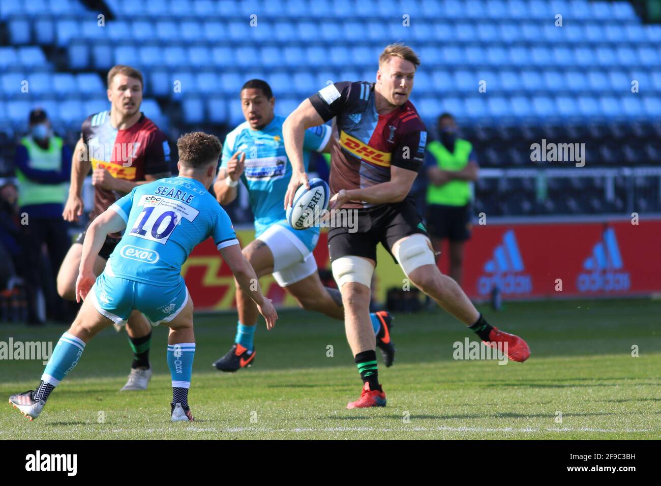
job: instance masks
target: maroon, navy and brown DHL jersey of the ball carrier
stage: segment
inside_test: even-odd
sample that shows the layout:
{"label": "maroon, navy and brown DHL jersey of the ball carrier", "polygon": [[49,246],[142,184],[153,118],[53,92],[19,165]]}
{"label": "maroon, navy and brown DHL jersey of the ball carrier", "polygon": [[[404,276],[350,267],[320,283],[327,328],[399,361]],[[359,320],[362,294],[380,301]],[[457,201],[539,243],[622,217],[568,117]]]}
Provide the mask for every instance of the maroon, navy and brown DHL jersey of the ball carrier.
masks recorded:
{"label": "maroon, navy and brown DHL jersey of the ball carrier", "polygon": [[[309,98],[325,122],[336,117],[338,143],[331,151],[331,192],[358,189],[390,181],[391,166],[420,171],[427,132],[410,101],[380,115],[374,83],[343,81]],[[352,201],[345,208],[369,208]]]}

